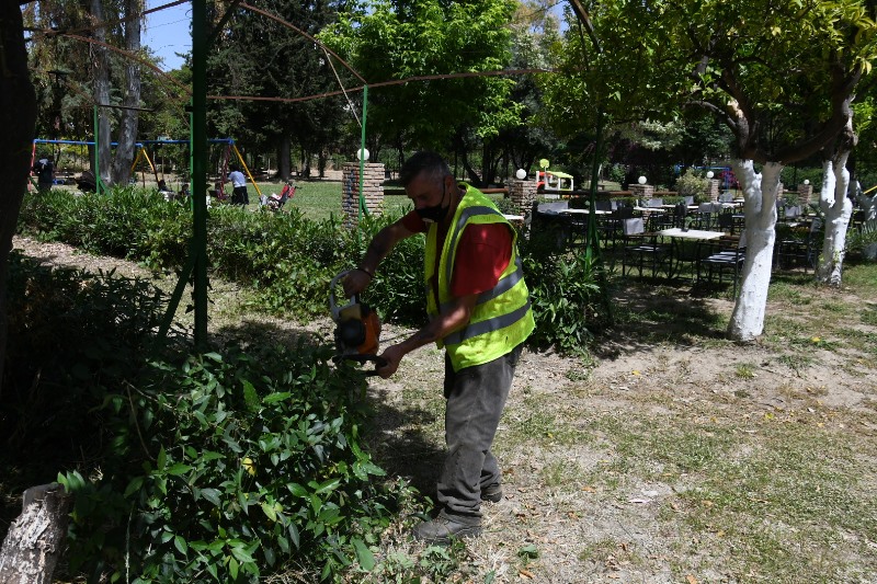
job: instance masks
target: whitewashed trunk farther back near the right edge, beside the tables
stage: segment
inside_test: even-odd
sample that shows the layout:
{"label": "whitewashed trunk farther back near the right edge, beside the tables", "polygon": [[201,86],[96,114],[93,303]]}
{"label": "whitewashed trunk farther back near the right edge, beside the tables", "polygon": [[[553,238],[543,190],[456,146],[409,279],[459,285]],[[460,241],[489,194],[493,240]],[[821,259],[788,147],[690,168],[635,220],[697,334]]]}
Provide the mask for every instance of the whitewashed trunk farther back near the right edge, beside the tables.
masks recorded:
{"label": "whitewashed trunk farther back near the right edge, beside the tables", "polygon": [[843,259],[846,253],[846,228],[853,216],[853,202],[846,196],[850,187],[850,171],[846,159],[850,151],[840,152],[835,161],[822,162],[822,190],[819,206],[825,214],[825,237],[822,255],[816,271],[817,280],[840,286],[843,276]]}

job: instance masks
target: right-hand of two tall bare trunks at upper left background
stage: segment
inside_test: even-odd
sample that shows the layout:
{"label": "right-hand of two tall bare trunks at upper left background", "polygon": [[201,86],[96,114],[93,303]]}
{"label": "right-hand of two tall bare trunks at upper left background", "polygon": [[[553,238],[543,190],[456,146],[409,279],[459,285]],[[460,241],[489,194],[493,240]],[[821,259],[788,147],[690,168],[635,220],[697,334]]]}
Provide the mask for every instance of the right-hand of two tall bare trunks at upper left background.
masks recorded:
{"label": "right-hand of two tall bare trunks at upper left background", "polygon": [[[141,0],[126,0],[125,14],[137,14],[143,11]],[[125,48],[128,53],[137,55],[140,51],[140,19],[125,22]],[[126,59],[125,79],[128,87],[125,90],[123,104],[127,107],[140,106],[140,66],[138,62]],[[118,147],[113,157],[113,181],[115,184],[128,184],[130,167],[134,162],[134,145],[137,141],[137,126],[139,112],[137,110],[122,110],[118,125]]]}

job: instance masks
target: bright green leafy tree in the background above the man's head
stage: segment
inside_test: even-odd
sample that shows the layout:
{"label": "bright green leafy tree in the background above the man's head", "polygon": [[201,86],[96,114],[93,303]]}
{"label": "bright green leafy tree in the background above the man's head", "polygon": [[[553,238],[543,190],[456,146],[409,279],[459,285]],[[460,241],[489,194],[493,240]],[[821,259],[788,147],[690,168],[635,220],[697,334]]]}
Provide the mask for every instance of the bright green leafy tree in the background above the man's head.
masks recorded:
{"label": "bright green leafy tree in the background above the man's head", "polygon": [[[512,0],[357,2],[320,38],[368,83],[419,76],[503,69],[511,59]],[[400,150],[406,144],[445,152],[520,123],[509,100],[514,82],[501,77],[456,77],[369,90],[368,133]],[[371,147],[371,145],[369,145]]]}

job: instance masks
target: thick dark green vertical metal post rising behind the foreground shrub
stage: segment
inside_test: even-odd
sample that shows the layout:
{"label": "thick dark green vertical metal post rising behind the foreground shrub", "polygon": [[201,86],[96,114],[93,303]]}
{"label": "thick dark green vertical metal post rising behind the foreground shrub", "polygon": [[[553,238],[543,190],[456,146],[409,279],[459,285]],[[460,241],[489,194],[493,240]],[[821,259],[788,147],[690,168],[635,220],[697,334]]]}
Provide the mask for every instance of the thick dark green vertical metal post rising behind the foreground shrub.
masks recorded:
{"label": "thick dark green vertical metal post rising behind the foreground shrub", "polygon": [[207,346],[207,1],[192,0],[192,203],[195,350]]}

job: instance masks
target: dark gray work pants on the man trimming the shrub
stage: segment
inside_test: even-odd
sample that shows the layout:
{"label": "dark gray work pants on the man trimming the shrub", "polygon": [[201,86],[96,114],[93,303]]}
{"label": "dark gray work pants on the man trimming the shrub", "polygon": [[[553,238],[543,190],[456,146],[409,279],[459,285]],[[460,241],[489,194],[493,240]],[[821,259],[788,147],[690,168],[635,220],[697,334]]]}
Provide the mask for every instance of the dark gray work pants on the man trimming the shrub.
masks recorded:
{"label": "dark gray work pants on the man trimming the shrub", "polygon": [[500,482],[490,453],[509,397],[521,345],[482,365],[454,371],[445,356],[445,443],[447,456],[438,478],[441,514],[466,525],[481,523],[481,489]]}

